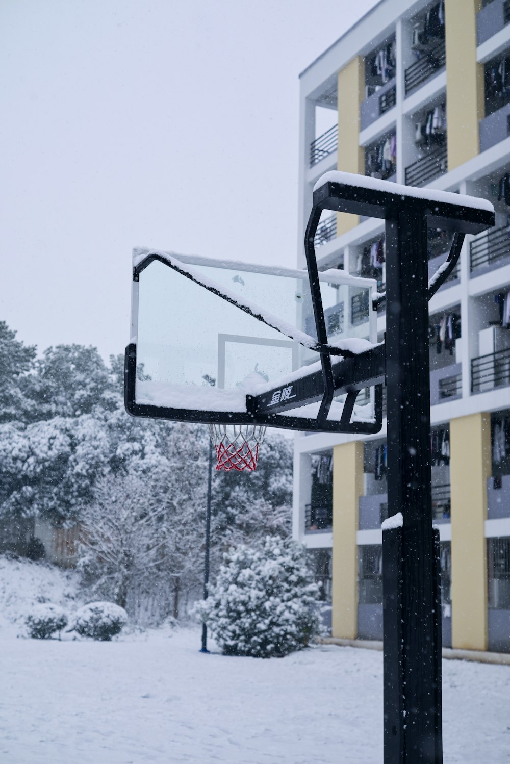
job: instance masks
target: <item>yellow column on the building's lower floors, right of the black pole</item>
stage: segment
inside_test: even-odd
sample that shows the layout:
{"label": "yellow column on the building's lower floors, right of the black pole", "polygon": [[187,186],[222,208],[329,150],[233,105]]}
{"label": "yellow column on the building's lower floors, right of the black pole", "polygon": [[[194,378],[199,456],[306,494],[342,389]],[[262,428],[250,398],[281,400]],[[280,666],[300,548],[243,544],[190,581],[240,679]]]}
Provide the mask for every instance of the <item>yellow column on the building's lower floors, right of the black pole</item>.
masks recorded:
{"label": "yellow column on the building's lower floors, right of the black pole", "polygon": [[452,646],[487,649],[487,479],[490,414],[450,422]]}

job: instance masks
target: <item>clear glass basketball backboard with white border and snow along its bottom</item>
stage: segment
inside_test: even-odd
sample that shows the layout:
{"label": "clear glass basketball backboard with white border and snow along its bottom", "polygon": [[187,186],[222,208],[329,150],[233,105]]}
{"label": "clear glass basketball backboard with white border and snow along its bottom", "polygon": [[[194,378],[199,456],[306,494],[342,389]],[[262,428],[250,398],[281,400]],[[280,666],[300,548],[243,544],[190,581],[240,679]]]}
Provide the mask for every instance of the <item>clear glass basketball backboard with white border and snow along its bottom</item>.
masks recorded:
{"label": "clear glass basketball backboard with white border and snow along its bottom", "polygon": [[[332,349],[373,348],[375,281],[328,270],[319,282]],[[324,390],[318,345],[307,270],[134,250],[126,351],[126,408],[134,416],[316,431]],[[334,368],[343,363],[333,358]],[[317,394],[296,407],[295,386],[315,371]],[[264,394],[263,410],[251,410],[250,400]],[[334,397],[320,429],[346,430],[345,397]],[[374,401],[372,388],[354,406],[354,429],[373,426]]]}

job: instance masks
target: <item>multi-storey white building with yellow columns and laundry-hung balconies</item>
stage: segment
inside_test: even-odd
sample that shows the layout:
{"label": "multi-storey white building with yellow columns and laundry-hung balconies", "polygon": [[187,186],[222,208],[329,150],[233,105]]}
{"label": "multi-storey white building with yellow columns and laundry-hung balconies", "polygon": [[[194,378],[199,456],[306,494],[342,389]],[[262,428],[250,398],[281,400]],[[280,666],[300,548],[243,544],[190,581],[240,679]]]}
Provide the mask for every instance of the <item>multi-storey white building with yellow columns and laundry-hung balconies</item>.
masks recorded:
{"label": "multi-storey white building with yellow columns and laundry-hung balconies", "polygon": [[[510,0],[380,0],[301,74],[299,141],[300,266],[312,189],[328,170],[495,206],[495,228],[466,236],[430,302],[432,497],[444,645],[509,651]],[[433,274],[450,236],[431,230],[429,243]],[[321,270],[384,290],[383,221],[323,212],[315,245]],[[381,339],[385,324],[382,302]],[[333,636],[382,639],[386,419],[371,437],[296,435],[294,467],[294,536]]]}

